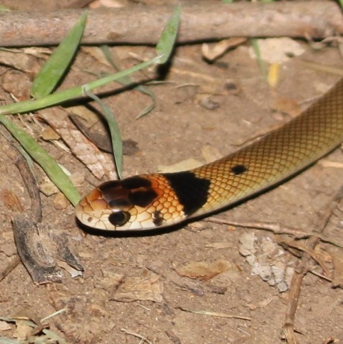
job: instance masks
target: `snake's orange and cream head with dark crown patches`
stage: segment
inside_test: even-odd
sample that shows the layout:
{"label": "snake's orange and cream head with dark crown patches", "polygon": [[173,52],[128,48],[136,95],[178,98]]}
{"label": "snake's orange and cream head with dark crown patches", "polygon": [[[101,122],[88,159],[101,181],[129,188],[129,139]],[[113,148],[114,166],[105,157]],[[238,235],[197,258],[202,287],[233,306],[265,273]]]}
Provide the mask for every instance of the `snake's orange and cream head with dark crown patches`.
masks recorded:
{"label": "snake's orange and cream head with dark crown patches", "polygon": [[107,231],[154,229],[184,217],[182,205],[161,174],[107,181],[80,200],[75,214],[82,224]]}

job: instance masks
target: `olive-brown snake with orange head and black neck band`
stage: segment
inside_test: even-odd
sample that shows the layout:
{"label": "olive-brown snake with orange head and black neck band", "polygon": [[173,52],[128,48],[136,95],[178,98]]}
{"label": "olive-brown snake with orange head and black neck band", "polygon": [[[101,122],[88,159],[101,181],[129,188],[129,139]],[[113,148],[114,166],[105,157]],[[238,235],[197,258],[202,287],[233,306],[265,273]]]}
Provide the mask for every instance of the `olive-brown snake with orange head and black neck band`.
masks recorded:
{"label": "olive-brown snake with orange head and black neck band", "polygon": [[192,170],[106,181],[75,207],[105,231],[174,226],[278,185],[343,142],[343,79],[300,115],[228,156]]}

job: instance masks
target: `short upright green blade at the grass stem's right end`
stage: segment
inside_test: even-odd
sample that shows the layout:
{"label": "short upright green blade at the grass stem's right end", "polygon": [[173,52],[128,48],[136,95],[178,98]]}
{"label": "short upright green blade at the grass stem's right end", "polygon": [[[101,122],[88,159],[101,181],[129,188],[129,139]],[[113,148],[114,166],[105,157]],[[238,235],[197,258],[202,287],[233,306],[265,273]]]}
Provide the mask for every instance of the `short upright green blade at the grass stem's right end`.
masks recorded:
{"label": "short upright green blade at the grass stem's right end", "polygon": [[167,62],[171,55],[171,51],[173,51],[180,24],[180,13],[180,6],[176,6],[173,14],[171,14],[171,17],[163,29],[160,39],[158,40],[156,51],[158,55],[163,55],[163,58],[161,58],[158,63],[163,64]]}

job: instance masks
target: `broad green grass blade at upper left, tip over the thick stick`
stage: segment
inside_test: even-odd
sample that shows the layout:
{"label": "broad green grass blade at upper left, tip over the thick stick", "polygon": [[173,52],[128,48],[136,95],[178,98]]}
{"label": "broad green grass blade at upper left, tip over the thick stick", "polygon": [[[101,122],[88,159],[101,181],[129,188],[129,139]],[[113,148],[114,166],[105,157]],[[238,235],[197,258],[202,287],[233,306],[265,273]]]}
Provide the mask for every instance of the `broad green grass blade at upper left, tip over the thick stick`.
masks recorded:
{"label": "broad green grass blade at upper left, tip over the thick stick", "polygon": [[32,82],[31,94],[34,98],[42,98],[56,89],[61,78],[66,73],[75,52],[78,50],[84,27],[86,26],[87,13],[83,12],[73,28],[56,47],[55,51],[38,72]]}

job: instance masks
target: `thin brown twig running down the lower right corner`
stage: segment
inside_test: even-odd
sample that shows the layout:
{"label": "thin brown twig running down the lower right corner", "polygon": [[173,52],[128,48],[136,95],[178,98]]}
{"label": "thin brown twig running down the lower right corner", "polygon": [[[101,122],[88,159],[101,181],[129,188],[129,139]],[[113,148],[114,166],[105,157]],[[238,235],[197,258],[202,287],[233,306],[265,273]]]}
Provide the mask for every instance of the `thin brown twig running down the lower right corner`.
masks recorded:
{"label": "thin brown twig running down the lower right corner", "polygon": [[[343,198],[343,187],[340,188],[338,193],[335,195],[329,206],[324,210],[320,217],[318,218],[318,231],[324,231],[333,211],[337,208],[338,204]],[[314,250],[316,245],[319,242],[319,238],[312,236],[307,241],[307,246],[309,249]],[[287,343],[289,344],[296,344],[296,336],[294,332],[294,319],[296,314],[296,308],[298,306],[298,299],[300,296],[300,288],[301,284],[303,283],[303,277],[309,272],[309,261],[311,260],[311,256],[307,253],[303,255],[303,258],[298,262],[296,268],[294,270],[294,274],[292,277],[291,286],[289,288],[289,303],[288,303],[288,310],[285,316],[285,323],[283,324],[283,332],[285,333],[285,337]]]}

